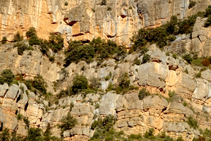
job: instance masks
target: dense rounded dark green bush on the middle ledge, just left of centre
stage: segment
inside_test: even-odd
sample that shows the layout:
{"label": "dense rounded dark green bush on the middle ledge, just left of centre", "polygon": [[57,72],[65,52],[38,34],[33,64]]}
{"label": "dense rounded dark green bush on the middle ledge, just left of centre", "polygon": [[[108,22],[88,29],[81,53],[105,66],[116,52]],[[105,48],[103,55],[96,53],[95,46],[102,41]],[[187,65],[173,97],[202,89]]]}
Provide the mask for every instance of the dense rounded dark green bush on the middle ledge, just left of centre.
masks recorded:
{"label": "dense rounded dark green bush on the middle ledge, just left of centre", "polygon": [[73,79],[72,92],[78,93],[88,88],[88,80],[83,75],[76,75]]}

